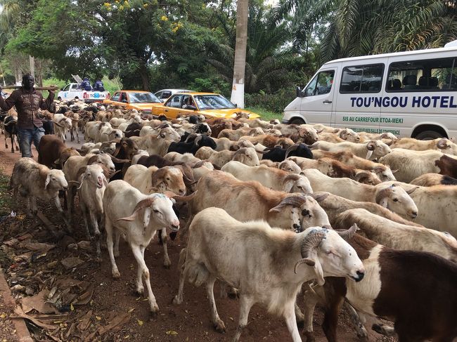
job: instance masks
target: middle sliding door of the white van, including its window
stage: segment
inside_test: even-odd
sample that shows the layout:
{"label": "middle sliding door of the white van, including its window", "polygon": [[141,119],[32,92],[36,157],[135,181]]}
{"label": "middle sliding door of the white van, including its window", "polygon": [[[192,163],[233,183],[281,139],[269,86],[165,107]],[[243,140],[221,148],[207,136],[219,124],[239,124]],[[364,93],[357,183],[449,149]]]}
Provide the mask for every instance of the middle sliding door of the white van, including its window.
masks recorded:
{"label": "middle sliding door of the white van, including its window", "polygon": [[379,132],[384,63],[349,65],[342,68],[337,87],[333,126],[356,132]]}

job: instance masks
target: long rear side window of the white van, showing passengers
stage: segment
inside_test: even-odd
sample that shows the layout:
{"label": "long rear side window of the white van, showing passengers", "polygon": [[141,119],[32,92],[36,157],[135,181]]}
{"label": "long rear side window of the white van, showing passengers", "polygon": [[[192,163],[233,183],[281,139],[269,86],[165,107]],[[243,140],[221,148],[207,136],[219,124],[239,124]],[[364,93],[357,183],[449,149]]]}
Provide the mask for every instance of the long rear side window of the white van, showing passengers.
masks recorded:
{"label": "long rear side window of the white van, showing passengers", "polygon": [[410,60],[389,66],[386,91],[457,90],[457,58]]}

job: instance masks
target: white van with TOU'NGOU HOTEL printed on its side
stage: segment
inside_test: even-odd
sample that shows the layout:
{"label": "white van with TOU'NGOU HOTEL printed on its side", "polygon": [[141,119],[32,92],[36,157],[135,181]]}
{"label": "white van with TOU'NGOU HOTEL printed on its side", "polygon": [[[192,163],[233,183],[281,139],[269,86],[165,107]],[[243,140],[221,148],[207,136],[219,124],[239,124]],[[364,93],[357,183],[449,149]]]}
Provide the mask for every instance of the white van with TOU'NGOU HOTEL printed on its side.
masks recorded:
{"label": "white van with TOU'NGOU HOTEL printed on its side", "polygon": [[457,46],[332,60],[297,88],[283,123],[457,137]]}

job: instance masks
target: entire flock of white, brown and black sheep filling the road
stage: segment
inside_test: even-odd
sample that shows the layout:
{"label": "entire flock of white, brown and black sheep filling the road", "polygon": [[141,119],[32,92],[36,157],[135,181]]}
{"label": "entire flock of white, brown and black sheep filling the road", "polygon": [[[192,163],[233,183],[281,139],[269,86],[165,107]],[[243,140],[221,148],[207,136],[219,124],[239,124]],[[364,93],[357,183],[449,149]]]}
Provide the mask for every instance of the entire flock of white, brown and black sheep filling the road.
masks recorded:
{"label": "entire flock of white, brown and black sheep filling the road", "polygon": [[[457,337],[457,145],[391,133],[356,133],[317,125],[249,119],[144,115],[116,107],[57,103],[38,162],[22,158],[11,176],[14,198],[53,201],[72,232],[75,195],[86,235],[101,256],[105,232],[112,277],[119,278],[120,237],[138,263],[136,291],[159,307],[145,249],[167,229],[180,231],[181,277],[205,284],[217,331],[214,282],[239,295],[238,341],[250,308],[284,318],[292,340],[313,341],[313,314],[323,303],[323,330],[337,341],[342,305],[356,334],[373,325],[399,341],[451,342]],[[5,129],[11,127],[5,120]],[[84,133],[79,148],[67,133]],[[64,206],[59,194],[65,192]],[[101,229],[103,228],[103,229]],[[349,229],[348,229],[349,228]],[[304,311],[297,305],[303,291]]]}

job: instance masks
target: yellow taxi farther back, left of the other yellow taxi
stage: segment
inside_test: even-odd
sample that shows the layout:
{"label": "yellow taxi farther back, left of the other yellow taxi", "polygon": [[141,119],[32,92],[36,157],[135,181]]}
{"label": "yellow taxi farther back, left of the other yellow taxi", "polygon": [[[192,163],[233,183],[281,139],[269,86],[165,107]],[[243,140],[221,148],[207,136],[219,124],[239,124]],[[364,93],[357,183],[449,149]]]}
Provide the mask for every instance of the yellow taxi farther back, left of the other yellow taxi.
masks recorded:
{"label": "yellow taxi farther back, left of the other yellow taxi", "polygon": [[162,105],[160,100],[149,91],[115,91],[109,99],[103,100],[107,105],[120,105],[127,110],[142,110],[150,114],[155,105]]}

